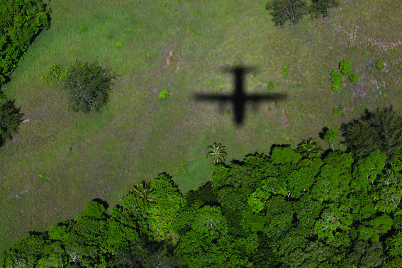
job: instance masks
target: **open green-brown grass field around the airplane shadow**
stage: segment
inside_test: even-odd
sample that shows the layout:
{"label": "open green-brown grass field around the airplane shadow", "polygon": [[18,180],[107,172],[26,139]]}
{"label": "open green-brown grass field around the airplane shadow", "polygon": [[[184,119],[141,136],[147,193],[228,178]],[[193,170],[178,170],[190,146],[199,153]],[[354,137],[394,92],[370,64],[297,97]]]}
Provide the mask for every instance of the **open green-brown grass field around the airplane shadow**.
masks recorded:
{"label": "open green-brown grass field around the airplane shadow", "polygon": [[[52,1],[51,28],[35,39],[5,91],[29,121],[0,148],[1,252],[27,231],[76,217],[93,198],[111,209],[133,184],[161,172],[184,193],[197,188],[211,179],[205,155],[214,141],[226,145],[227,163],[309,137],[328,148],[318,137],[323,127],[339,127],[366,107],[400,111],[398,1],[343,0],[329,18],[306,17],[285,29],[273,26],[266,0],[191,2]],[[166,51],[172,57],[164,68]],[[64,69],[74,59],[98,59],[120,75],[103,114],[68,110],[66,94],[40,79],[51,65]],[[334,92],[330,68],[343,59],[361,80],[345,80]],[[383,72],[371,68],[376,61],[386,63]],[[235,63],[258,67],[245,80],[248,93],[268,93],[272,80],[271,92],[289,100],[247,106],[237,128],[233,115],[225,116],[229,104],[192,99],[195,92],[231,92],[233,77],[221,68]],[[162,90],[170,98],[158,100]],[[340,105],[341,114],[332,115]],[[177,175],[181,162],[188,172]]]}

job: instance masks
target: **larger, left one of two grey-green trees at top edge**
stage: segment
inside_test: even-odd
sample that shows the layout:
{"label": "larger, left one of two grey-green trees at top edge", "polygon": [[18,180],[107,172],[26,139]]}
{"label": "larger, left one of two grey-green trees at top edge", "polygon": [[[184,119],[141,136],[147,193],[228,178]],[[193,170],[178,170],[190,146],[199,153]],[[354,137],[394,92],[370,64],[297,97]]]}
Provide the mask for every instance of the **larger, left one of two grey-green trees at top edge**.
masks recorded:
{"label": "larger, left one of two grey-green trees at top edge", "polygon": [[304,0],[273,0],[265,6],[265,10],[271,10],[269,14],[275,27],[282,28],[288,20],[293,25],[299,23],[308,8]]}

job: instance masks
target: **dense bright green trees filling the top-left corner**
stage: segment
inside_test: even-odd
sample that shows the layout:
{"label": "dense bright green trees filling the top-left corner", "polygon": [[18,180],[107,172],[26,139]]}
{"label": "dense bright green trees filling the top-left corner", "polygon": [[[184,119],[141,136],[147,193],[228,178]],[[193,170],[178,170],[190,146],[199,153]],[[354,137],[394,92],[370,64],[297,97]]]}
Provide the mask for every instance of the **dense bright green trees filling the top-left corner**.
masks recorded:
{"label": "dense bright green trees filling the top-left corner", "polygon": [[49,29],[50,8],[41,0],[7,0],[0,3],[0,85],[10,74],[33,39]]}

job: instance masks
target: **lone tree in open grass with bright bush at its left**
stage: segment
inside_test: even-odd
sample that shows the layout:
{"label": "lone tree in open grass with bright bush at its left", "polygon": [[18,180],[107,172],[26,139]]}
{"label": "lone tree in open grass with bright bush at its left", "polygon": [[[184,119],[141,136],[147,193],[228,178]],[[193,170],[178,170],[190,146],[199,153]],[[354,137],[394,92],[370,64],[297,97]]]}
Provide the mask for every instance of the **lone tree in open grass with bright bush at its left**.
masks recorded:
{"label": "lone tree in open grass with bright bush at its left", "polygon": [[109,100],[112,79],[117,78],[110,68],[101,68],[97,61],[88,63],[77,59],[64,72],[60,71],[59,65],[53,65],[48,75],[49,78],[44,76],[42,79],[62,84],[70,94],[72,109],[84,113],[101,111]]}

